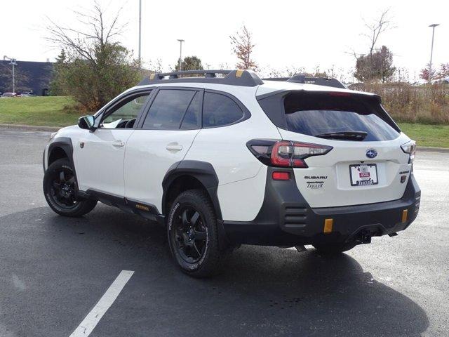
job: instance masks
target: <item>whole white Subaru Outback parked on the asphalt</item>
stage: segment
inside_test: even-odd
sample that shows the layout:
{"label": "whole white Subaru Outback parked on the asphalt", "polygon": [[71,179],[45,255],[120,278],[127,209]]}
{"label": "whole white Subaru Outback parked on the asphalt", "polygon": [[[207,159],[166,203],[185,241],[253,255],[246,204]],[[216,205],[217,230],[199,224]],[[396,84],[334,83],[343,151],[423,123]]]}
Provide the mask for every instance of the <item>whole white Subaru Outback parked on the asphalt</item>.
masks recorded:
{"label": "whole white Subaru Outback parked on the asphalt", "polygon": [[152,74],[51,136],[43,191],[62,216],[102,201],[166,225],[177,265],[204,277],[240,244],[396,235],[420,205],[414,156],[379,96],[335,79]]}

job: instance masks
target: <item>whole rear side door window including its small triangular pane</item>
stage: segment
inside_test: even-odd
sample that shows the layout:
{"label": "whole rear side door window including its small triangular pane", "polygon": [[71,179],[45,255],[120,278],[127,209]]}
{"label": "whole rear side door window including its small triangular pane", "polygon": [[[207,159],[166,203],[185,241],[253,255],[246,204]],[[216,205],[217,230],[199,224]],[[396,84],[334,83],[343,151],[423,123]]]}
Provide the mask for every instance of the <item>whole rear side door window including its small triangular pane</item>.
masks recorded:
{"label": "whole rear side door window including its small triangular pane", "polygon": [[198,126],[201,105],[195,96],[199,96],[196,91],[160,90],[149,108],[143,128],[174,130],[180,128],[181,123],[182,128]]}

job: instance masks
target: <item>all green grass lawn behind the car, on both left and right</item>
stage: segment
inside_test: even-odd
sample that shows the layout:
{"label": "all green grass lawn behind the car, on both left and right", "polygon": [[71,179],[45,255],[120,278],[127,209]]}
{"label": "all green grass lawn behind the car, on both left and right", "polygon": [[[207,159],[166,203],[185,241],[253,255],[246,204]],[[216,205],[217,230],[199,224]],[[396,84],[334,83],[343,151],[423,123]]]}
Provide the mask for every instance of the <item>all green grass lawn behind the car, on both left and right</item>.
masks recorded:
{"label": "all green grass lawn behind the car, on both left and right", "polygon": [[[0,98],[0,124],[67,126],[83,114],[68,96]],[[449,147],[449,125],[398,123],[418,146]]]}

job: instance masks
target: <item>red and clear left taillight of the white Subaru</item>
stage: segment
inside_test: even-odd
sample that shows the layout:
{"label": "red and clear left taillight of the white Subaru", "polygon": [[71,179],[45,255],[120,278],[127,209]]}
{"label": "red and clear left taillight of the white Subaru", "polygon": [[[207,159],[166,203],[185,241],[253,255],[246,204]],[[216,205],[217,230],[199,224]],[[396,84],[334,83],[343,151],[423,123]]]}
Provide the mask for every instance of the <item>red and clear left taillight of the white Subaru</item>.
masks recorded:
{"label": "red and clear left taillight of the white Subaru", "polygon": [[290,140],[250,140],[251,152],[269,166],[307,168],[304,159],[328,153],[333,147]]}

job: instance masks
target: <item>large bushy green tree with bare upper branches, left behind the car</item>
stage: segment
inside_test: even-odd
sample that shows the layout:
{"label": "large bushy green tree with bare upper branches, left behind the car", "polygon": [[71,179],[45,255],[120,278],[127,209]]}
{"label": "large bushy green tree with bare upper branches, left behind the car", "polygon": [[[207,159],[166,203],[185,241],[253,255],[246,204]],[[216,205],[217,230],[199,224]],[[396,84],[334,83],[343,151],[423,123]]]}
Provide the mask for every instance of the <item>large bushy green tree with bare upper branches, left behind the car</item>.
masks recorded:
{"label": "large bushy green tree with bare upper branches, left behind the car", "polygon": [[72,95],[86,110],[95,111],[138,83],[138,60],[116,40],[123,29],[119,14],[108,22],[95,3],[90,13],[76,13],[84,29],[51,21],[48,40],[64,49],[55,65],[52,91]]}

